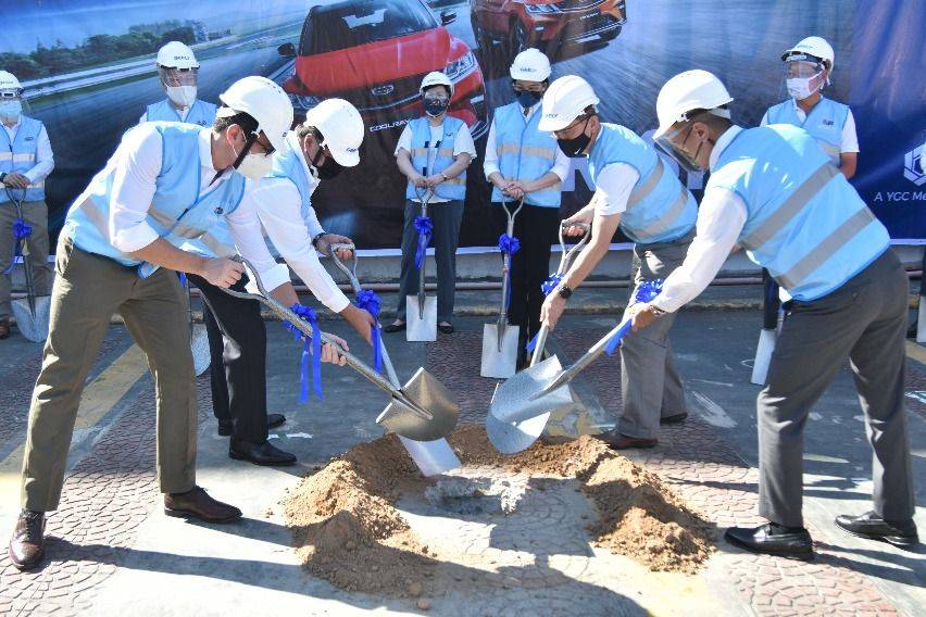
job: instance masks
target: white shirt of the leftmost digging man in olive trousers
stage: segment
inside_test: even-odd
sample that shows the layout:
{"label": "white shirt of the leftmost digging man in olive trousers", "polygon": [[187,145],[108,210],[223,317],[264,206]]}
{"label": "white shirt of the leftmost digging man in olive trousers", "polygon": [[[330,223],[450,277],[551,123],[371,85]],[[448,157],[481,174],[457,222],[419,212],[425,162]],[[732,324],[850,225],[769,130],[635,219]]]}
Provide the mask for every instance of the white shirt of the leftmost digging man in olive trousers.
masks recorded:
{"label": "white shirt of the leftmost digging man in olive trousers", "polygon": [[[163,139],[154,125],[139,125],[123,136],[107,163],[107,169],[102,172],[108,172],[111,166],[115,168],[110,199],[110,238],[113,247],[123,253],[143,249],[160,238],[158,231],[148,224],[148,209],[151,207],[155,181],[161,173],[162,147]],[[233,172],[226,169],[212,182],[216,169],[212,164],[211,130],[199,134],[199,197],[202,197],[226,181]],[[225,221],[238,252],[258,269],[264,286],[275,289],[289,282],[289,270],[277,264],[267,250],[251,193],[252,190],[245,190],[240,205],[226,214]],[[82,198],[78,198],[79,201]]]}

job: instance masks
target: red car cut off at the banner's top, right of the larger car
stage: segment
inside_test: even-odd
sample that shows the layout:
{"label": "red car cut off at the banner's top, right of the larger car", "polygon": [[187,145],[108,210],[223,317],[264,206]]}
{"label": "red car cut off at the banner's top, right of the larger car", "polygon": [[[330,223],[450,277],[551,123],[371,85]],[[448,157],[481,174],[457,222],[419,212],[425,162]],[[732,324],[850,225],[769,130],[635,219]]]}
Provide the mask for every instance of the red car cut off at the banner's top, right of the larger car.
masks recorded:
{"label": "red car cut off at the banner's top, right of the larger car", "polygon": [[500,43],[509,60],[529,47],[551,59],[564,47],[614,39],[627,21],[625,0],[470,0],[479,46]]}

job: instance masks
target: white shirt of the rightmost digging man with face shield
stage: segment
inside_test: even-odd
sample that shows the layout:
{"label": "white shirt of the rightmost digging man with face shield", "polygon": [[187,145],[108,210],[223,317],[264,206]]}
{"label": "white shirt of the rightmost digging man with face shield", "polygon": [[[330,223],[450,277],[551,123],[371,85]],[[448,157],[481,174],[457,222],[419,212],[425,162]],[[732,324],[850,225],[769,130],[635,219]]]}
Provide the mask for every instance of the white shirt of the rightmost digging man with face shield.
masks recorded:
{"label": "white shirt of the rightmost digging man with face shield", "polygon": [[[717,139],[711,151],[712,171],[721,153],[740,130],[742,128],[733,126]],[[705,189],[698,210],[694,240],[688,248],[685,262],[665,279],[662,293],[652,304],[673,313],[704,291],[736,245],[747,215],[746,202],[735,192],[717,187]]]}

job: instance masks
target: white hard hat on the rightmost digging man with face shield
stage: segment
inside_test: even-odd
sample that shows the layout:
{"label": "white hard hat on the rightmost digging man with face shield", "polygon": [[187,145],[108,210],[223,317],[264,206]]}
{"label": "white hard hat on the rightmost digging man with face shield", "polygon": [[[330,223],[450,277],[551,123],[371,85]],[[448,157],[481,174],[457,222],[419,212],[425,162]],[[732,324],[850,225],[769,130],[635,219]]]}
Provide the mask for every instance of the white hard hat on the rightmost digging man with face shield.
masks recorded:
{"label": "white hard hat on the rightmost digging man with face shield", "polygon": [[[656,98],[659,128],[653,139],[659,139],[675,123],[687,119],[692,110],[713,110],[733,101],[726,86],[716,75],[694,70],[679,73],[665,83]],[[725,114],[721,114],[725,115]],[[726,117],[729,117],[726,115]]]}

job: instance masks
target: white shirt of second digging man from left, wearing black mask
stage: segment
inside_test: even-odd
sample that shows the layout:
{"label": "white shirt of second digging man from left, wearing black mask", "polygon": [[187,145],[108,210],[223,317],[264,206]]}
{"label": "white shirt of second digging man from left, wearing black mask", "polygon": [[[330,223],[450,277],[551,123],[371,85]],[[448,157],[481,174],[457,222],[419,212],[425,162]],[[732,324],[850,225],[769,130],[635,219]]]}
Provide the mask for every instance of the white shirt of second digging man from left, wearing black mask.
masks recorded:
{"label": "white shirt of second digging man from left, wearing black mask", "polygon": [[[286,138],[298,152],[299,162],[309,178],[309,192],[312,193],[318,186],[318,179],[312,175],[296,134],[289,133]],[[251,197],[264,231],[289,267],[322,304],[335,313],[343,311],[350,300],[338,289],[312,245],[312,238],[324,232],[315,209],[309,209],[308,216],[302,218],[299,189],[287,178],[262,178],[251,191]]]}

